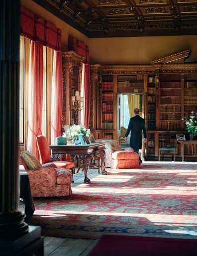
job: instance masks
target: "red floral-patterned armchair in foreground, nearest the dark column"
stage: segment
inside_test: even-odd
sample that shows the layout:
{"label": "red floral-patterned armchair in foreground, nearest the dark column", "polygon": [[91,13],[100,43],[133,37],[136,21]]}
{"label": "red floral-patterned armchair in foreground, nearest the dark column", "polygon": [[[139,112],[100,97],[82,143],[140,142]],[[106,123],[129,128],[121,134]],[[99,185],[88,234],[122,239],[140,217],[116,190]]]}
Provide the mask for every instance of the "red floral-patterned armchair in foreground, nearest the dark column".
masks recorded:
{"label": "red floral-patterned armchair in foreground, nearest the dark column", "polygon": [[25,160],[20,156],[20,164],[24,166],[29,176],[32,197],[68,196],[71,198],[71,171],[55,168],[55,164],[42,167],[38,163],[36,162],[30,167],[37,169],[29,169]]}

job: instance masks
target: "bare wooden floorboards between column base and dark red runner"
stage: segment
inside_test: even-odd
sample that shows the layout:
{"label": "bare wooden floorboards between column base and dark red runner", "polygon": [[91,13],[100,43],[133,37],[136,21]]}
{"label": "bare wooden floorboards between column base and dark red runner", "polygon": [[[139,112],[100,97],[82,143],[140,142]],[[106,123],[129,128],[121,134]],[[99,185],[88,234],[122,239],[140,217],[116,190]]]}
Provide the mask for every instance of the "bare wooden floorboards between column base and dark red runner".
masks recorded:
{"label": "bare wooden floorboards between column base and dark red runner", "polygon": [[44,238],[44,256],[87,256],[98,239]]}

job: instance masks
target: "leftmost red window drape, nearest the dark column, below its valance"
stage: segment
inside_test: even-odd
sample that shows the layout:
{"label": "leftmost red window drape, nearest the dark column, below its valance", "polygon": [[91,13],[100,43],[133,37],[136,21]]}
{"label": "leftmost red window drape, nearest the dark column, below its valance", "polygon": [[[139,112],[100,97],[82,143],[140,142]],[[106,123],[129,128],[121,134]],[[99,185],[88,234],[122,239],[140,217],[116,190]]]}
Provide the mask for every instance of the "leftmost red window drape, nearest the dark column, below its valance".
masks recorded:
{"label": "leftmost red window drape, nearest the dark column, below its valance", "polygon": [[39,159],[36,136],[42,134],[43,45],[31,41],[28,87],[27,150]]}

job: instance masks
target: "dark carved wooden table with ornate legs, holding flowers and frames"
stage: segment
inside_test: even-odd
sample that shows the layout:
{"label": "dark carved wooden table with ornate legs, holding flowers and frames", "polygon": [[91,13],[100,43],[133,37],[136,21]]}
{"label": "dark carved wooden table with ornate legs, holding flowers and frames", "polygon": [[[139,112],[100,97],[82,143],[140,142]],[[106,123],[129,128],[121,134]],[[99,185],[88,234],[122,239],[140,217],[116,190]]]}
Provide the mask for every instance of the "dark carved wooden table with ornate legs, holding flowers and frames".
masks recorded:
{"label": "dark carved wooden table with ornate legs, holding flowers and frames", "polygon": [[50,145],[52,150],[51,159],[57,161],[61,156],[70,154],[71,159],[75,162],[76,157],[84,162],[84,183],[90,183],[88,178],[88,169],[90,166],[90,160],[96,160],[101,158],[101,171],[102,174],[107,174],[105,171],[105,144],[104,143],[92,143],[90,145]]}

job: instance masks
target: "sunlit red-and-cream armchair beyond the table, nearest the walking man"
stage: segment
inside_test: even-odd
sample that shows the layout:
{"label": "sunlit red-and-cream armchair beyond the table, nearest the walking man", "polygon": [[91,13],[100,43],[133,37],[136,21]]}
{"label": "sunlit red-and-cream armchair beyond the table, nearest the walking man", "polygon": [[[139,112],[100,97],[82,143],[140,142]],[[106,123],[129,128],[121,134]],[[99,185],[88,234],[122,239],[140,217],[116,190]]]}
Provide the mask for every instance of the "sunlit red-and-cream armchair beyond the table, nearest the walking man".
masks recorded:
{"label": "sunlit red-and-cream armchair beyond the table, nearest the walking man", "polygon": [[105,166],[115,169],[131,169],[139,167],[139,155],[132,148],[122,150],[117,140],[98,139],[105,143]]}

